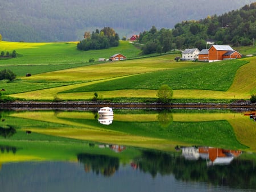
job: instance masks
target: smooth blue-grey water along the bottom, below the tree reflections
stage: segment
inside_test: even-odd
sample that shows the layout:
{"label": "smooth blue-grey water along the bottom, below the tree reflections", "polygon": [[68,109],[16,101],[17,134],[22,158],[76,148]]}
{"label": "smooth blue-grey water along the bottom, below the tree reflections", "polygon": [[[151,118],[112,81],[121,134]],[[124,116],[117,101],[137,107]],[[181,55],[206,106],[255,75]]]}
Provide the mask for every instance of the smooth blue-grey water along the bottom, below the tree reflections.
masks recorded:
{"label": "smooth blue-grey water along the bottom, below the tree reflections", "polygon": [[[185,170],[184,170],[185,171]],[[254,170],[255,172],[255,170]],[[214,174],[214,173],[213,173]],[[201,176],[203,177],[203,175]],[[236,174],[234,174],[236,177]],[[255,174],[254,174],[255,177]],[[249,178],[248,178],[249,179]],[[225,180],[225,178],[224,178]],[[233,181],[234,182],[234,181]],[[252,191],[237,189],[230,181],[213,185],[177,180],[174,174],[156,174],[120,166],[111,177],[85,172],[77,162],[19,162],[6,164],[0,172],[1,191]],[[254,183],[255,187],[255,183]],[[254,188],[255,190],[255,188]]]}

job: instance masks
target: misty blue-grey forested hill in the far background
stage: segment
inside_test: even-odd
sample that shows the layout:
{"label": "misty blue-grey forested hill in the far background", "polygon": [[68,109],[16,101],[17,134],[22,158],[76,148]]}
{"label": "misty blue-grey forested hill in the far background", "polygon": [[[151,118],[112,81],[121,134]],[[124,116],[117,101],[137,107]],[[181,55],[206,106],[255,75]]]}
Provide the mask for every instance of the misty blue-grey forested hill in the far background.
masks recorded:
{"label": "misty blue-grey forested hill in the far background", "polygon": [[10,0],[0,3],[0,34],[6,41],[81,40],[85,31],[112,27],[119,36],[174,28],[183,20],[240,9],[255,0]]}

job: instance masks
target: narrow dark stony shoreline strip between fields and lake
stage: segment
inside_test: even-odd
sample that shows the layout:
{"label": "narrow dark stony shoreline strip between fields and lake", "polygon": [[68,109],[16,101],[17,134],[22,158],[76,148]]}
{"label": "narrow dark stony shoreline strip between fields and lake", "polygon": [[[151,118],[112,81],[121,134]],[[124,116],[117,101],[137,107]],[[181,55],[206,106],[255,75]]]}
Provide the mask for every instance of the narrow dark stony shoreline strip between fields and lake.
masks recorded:
{"label": "narrow dark stony shoreline strip between fields and lake", "polygon": [[256,103],[111,103],[92,101],[67,101],[67,102],[7,102],[0,103],[0,108],[223,108],[256,110]]}

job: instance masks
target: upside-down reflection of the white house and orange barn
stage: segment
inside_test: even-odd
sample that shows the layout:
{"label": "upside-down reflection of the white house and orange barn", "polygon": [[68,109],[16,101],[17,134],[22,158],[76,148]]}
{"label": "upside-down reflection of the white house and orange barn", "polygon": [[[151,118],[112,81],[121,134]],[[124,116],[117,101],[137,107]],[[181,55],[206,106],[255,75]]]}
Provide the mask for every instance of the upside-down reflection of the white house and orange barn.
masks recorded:
{"label": "upside-down reflection of the white house and orange barn", "polygon": [[207,160],[207,165],[224,165],[242,154],[241,150],[221,149],[214,147],[183,147],[182,155],[187,160]]}

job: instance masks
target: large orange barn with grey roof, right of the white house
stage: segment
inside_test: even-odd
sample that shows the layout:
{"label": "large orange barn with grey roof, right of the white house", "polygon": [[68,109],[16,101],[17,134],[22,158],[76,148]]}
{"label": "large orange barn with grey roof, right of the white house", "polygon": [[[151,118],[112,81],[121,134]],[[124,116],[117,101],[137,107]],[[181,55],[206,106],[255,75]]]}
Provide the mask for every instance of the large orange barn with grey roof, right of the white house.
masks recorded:
{"label": "large orange barn with grey roof, right of the white house", "polygon": [[238,59],[242,55],[234,51],[229,45],[212,45],[209,50],[209,62],[221,61],[227,59]]}

